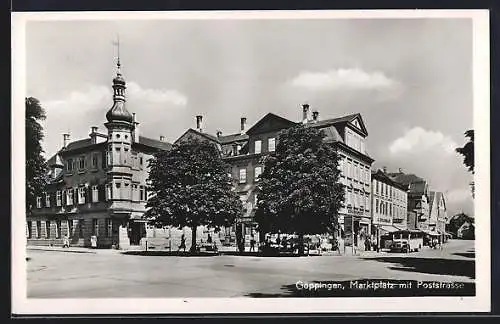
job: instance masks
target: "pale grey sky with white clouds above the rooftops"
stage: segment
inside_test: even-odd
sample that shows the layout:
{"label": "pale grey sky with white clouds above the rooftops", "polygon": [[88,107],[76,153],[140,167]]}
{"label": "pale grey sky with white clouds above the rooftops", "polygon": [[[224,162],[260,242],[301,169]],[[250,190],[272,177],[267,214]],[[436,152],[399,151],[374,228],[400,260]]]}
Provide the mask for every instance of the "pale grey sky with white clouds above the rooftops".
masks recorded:
{"label": "pale grey sky with white clouds above the rooftops", "polygon": [[472,176],[454,149],[473,126],[472,21],[433,19],[30,21],[26,96],[47,113],[47,158],[105,132],[120,37],[127,109],[144,136],[175,141],[203,115],[239,131],[268,112],[299,121],[361,113],[374,168],[414,173],[473,215]]}

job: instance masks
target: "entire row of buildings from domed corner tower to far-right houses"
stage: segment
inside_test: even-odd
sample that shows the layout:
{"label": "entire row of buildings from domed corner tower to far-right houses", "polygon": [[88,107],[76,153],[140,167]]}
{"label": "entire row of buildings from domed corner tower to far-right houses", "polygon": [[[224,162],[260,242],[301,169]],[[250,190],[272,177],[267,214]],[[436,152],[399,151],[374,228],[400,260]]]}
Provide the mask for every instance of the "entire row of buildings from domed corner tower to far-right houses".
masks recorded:
{"label": "entire row of buildings from domed corner tower to far-right houses", "polygon": [[[119,65],[112,87],[113,106],[106,113],[106,132],[91,127],[89,138],[76,141],[64,134],[63,147],[48,160],[46,192],[37,198],[36,208],[27,216],[28,244],[60,245],[68,236],[74,246],[90,246],[95,237],[99,247],[128,249],[140,245],[143,238],[157,235],[143,217],[150,195],[148,160],[155,152],[169,150],[172,144],[163,136],[152,139],[140,134],[136,114],[126,108],[126,82]],[[276,149],[281,130],[297,123],[323,130],[324,140],[341,156],[346,201],[339,211],[337,235],[361,245],[366,236],[397,229],[444,233],[446,203],[441,192],[431,191],[426,180],[402,170],[372,170],[374,159],[366,149],[368,132],[359,113],[321,119],[308,104],[301,109],[299,121],[268,113],[249,128],[247,119],[241,117],[240,131],[234,134],[207,133],[199,115],[196,127],[174,141],[200,138],[213,142],[230,166],[228,172],[245,213],[237,224],[220,233],[222,244],[235,244],[236,231],[246,236],[256,232],[261,158]],[[177,237],[179,231],[185,229],[177,230]],[[171,237],[172,229],[168,232]]]}

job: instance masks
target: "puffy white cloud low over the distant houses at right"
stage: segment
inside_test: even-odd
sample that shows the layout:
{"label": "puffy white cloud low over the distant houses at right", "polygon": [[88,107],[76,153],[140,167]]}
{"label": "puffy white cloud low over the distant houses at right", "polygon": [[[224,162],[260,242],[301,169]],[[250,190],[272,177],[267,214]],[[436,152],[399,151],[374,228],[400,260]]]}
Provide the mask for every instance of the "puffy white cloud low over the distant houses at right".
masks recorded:
{"label": "puffy white cloud low over the distant houses at right", "polygon": [[421,127],[409,129],[402,137],[389,145],[392,154],[422,152],[439,148],[445,153],[454,153],[458,145],[449,137],[438,131],[428,131]]}

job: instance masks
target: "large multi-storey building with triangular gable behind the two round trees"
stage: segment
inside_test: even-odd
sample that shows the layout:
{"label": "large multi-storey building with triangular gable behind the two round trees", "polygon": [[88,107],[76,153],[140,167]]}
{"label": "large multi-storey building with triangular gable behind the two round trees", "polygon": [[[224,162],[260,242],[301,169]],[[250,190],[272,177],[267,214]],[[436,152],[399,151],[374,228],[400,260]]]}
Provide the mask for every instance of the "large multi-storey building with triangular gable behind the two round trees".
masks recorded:
{"label": "large multi-storey building with triangular gable behind the two round trees", "polygon": [[319,113],[311,113],[309,105],[305,104],[302,106],[301,121],[294,122],[268,113],[247,130],[246,118],[242,117],[239,133],[224,135],[218,132],[215,136],[203,131],[202,121],[203,117],[197,116],[196,129],[189,129],[175,143],[193,136],[212,141],[220,146],[223,159],[230,165],[228,176],[233,178],[235,190],[245,207],[245,214],[235,226],[222,233],[221,242],[234,242],[236,230],[242,231],[246,236],[258,234],[254,214],[257,184],[263,170],[261,158],[275,151],[281,130],[298,123],[323,130],[326,133],[325,142],[334,145],[342,158],[340,181],[346,185],[346,206],[340,210],[338,234],[346,230],[350,233],[353,229],[354,240],[358,244],[363,233],[370,233],[370,170],[374,160],[366,151],[365,140],[368,133],[360,114],[320,120]]}

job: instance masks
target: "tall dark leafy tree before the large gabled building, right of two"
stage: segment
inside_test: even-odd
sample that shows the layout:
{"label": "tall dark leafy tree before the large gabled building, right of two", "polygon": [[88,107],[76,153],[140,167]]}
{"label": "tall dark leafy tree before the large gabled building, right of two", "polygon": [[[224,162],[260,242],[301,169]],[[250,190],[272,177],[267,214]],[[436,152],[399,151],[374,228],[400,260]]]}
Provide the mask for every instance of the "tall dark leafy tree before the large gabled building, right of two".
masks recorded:
{"label": "tall dark leafy tree before the large gabled building, right of two", "polygon": [[304,235],[332,232],[344,201],[339,155],[325,134],[298,124],[278,134],[276,151],[263,160],[256,220],[263,233]]}

